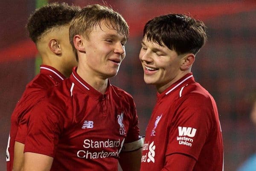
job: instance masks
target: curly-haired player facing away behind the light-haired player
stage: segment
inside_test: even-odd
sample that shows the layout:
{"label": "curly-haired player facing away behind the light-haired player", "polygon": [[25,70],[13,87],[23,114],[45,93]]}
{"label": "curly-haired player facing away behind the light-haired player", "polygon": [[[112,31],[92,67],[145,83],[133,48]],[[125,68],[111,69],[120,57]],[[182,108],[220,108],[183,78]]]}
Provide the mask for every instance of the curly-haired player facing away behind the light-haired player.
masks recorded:
{"label": "curly-haired player facing away behind the light-haired player", "polygon": [[23,149],[26,138],[28,111],[46,91],[68,77],[77,66],[69,42],[69,26],[79,7],[67,3],[50,3],[33,12],[27,23],[29,37],[42,58],[40,74],[26,86],[11,116],[11,129],[6,149],[7,171],[23,168]]}

